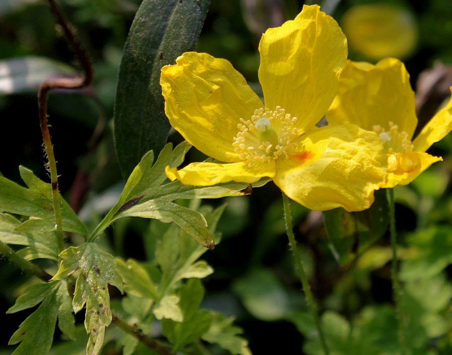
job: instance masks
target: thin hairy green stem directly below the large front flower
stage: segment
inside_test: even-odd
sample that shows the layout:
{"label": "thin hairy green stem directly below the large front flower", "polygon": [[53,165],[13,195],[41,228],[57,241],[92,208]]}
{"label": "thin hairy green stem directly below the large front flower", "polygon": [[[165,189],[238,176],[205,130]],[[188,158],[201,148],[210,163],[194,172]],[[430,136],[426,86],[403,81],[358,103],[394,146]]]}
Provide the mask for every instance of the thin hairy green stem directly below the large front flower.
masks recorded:
{"label": "thin hairy green stem directly below the large front flower", "polygon": [[[282,191],[281,191],[282,192]],[[284,218],[286,220],[286,230],[287,236],[289,238],[290,249],[292,249],[293,258],[295,260],[295,267],[298,270],[298,275],[300,277],[301,285],[303,286],[304,294],[306,295],[306,301],[309,305],[309,310],[311,312],[312,318],[314,319],[315,326],[317,327],[318,336],[320,338],[320,343],[323,348],[325,355],[329,355],[328,347],[326,346],[325,336],[320,325],[320,319],[318,317],[317,304],[312,296],[311,288],[304,270],[303,262],[301,261],[300,254],[295,242],[295,236],[292,230],[292,214],[290,211],[289,198],[284,192],[282,192],[283,203],[284,203]]]}

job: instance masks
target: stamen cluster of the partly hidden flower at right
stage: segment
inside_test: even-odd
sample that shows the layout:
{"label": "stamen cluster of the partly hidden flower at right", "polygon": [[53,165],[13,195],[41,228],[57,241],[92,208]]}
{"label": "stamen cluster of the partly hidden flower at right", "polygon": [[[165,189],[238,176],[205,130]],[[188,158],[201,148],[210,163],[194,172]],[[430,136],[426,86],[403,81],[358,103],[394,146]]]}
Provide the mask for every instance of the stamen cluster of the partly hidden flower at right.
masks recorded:
{"label": "stamen cluster of the partly hidden flower at right", "polygon": [[373,127],[380,135],[383,147],[388,152],[388,169],[395,174],[403,174],[414,171],[419,165],[419,158],[411,153],[413,144],[408,139],[406,132],[399,132],[399,127],[389,122],[389,131],[386,132],[381,126]]}

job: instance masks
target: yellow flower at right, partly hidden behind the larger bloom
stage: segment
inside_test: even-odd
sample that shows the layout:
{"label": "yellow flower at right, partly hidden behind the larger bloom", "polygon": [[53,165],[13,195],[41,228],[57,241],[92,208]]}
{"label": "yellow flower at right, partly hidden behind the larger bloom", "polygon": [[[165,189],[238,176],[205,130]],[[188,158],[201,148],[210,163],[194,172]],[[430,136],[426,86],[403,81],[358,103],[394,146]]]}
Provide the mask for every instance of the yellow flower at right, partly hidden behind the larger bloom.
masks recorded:
{"label": "yellow flower at right, partly hidden behind the larger bloom", "polygon": [[394,58],[376,65],[348,61],[326,119],[330,125],[356,124],[378,133],[388,155],[388,177],[382,187],[407,185],[442,161],[425,151],[452,130],[452,99],[413,140],[414,92],[403,63]]}

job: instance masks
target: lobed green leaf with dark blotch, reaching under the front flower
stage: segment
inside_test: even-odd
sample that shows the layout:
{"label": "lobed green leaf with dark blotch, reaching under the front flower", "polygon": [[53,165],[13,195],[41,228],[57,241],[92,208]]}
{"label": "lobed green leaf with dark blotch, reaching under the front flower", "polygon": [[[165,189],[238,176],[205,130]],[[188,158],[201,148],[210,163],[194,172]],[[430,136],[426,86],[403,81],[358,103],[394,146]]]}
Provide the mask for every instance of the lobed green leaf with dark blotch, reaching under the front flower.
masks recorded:
{"label": "lobed green leaf with dark blotch, reaching under the front flower", "polygon": [[[167,144],[154,165],[152,165],[154,161],[153,152],[148,152],[130,175],[118,203],[97,226],[90,237],[90,241],[93,241],[114,220],[136,216],[156,218],[164,223],[174,222],[199,244],[213,249],[214,241],[202,214],[179,206],[173,201],[179,198],[241,196],[249,194],[251,191],[249,184],[235,182],[215,186],[188,186],[182,185],[179,181],[174,181],[162,185],[166,180],[165,167],[179,166],[190,147],[187,142],[183,142],[172,150],[172,144]],[[262,186],[267,181],[262,180],[253,186]]]}

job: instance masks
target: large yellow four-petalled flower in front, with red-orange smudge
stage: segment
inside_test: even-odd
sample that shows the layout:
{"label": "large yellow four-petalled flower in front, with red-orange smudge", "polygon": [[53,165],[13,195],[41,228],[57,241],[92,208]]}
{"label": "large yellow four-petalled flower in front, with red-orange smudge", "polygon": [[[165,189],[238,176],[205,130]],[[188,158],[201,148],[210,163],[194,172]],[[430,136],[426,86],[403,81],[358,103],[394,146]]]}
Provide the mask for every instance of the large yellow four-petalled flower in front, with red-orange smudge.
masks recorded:
{"label": "large yellow four-petalled flower in front, with red-orange smudge", "polygon": [[184,53],[162,68],[171,125],[217,163],[167,167],[171,180],[209,186],[270,177],[315,210],[368,208],[386,171],[377,134],[356,125],[316,128],[330,106],[347,58],[337,23],[304,6],[294,21],[267,30],[259,51],[265,105],[230,62]]}

